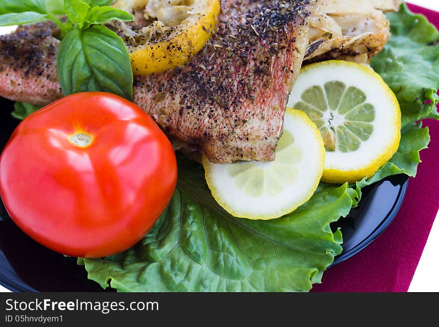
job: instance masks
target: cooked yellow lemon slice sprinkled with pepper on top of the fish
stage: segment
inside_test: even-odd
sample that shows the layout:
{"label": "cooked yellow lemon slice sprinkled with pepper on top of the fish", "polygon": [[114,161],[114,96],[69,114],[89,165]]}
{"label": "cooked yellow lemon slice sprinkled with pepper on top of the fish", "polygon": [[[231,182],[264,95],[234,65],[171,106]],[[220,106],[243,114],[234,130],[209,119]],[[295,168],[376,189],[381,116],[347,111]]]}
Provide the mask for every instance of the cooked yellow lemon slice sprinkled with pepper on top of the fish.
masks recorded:
{"label": "cooked yellow lemon slice sprinkled with pepper on top of the fish", "polygon": [[134,12],[120,23],[136,75],[151,75],[186,64],[208,42],[220,0],[118,0],[114,7]]}

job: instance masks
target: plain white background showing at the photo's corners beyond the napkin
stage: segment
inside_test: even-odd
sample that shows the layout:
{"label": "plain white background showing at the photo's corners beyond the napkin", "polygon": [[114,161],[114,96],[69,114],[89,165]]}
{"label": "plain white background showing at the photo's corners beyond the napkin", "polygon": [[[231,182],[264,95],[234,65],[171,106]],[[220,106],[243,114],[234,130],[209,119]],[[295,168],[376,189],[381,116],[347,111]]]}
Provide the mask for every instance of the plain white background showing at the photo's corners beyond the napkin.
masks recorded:
{"label": "plain white background showing at the photo's corners beyond the napkin", "polygon": [[[411,0],[410,2],[439,11],[438,0]],[[0,28],[0,34],[2,31],[4,32],[5,30]],[[436,276],[439,271],[438,250],[439,213],[438,217],[436,217],[436,221],[433,225],[432,232],[421,257],[421,261],[419,262],[415,276],[413,277],[409,292],[439,292],[439,279],[431,277]],[[0,292],[9,291],[0,286]]]}

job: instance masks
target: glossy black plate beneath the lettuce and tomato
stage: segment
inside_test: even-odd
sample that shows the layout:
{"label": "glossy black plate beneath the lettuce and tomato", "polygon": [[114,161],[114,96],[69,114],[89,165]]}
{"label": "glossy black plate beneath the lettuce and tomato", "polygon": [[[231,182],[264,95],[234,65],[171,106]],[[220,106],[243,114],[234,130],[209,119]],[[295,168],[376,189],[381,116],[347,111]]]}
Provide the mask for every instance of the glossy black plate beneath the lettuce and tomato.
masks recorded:
{"label": "glossy black plate beneath the lettuce and tomato", "polygon": [[[10,112],[12,103],[0,98],[0,148],[18,124]],[[387,178],[363,189],[359,206],[331,227],[343,233],[342,254],[333,265],[360,252],[395,218],[408,185],[406,175]],[[0,284],[11,291],[94,292],[102,291],[87,279],[83,267],[36,243],[8,218],[0,202]]]}

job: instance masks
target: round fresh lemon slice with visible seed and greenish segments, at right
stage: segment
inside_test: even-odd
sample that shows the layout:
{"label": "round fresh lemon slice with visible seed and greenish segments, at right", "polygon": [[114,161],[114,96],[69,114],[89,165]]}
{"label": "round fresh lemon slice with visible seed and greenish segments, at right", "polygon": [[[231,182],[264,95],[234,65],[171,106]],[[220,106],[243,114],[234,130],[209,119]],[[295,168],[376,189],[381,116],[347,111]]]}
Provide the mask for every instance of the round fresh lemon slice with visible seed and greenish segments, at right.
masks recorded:
{"label": "round fresh lemon slice with visible seed and greenish segments, at right", "polygon": [[288,106],[305,112],[322,135],[324,182],[354,183],[371,177],[398,150],[398,100],[367,66],[331,60],[304,67]]}

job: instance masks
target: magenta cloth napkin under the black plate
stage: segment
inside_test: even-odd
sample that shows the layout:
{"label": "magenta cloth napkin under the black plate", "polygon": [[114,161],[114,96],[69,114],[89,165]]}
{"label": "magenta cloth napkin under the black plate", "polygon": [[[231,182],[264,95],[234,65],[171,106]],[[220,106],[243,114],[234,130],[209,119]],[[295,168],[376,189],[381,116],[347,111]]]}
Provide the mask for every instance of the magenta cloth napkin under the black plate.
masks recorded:
{"label": "magenta cloth napkin under the black plate", "polygon": [[[409,4],[439,27],[439,12]],[[429,120],[432,141],[421,152],[401,210],[386,231],[359,254],[328,269],[317,292],[407,292],[439,210],[439,121]],[[439,250],[439,249],[438,249]],[[436,272],[432,272],[435,274]]]}

